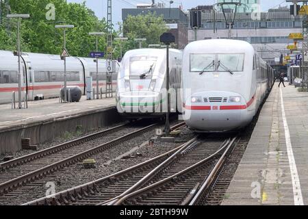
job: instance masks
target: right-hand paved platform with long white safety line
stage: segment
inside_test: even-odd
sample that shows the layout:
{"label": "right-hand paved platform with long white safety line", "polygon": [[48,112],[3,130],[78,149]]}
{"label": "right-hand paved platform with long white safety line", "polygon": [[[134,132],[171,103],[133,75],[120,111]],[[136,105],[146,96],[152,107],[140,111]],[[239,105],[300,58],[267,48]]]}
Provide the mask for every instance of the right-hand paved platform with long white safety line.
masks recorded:
{"label": "right-hand paved platform with long white safety line", "polygon": [[222,205],[308,205],[307,92],[274,85]]}

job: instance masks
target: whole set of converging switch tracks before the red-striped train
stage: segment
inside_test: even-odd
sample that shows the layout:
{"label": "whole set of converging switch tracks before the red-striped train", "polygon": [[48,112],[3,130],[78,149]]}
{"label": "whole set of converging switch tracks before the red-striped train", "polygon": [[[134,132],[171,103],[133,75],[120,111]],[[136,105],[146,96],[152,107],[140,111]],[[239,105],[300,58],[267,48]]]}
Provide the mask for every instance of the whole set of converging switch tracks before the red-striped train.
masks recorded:
{"label": "whole set of converging switch tracks before the red-striped train", "polygon": [[[224,152],[223,149],[230,149],[234,141],[235,139],[224,142],[217,139],[200,141],[194,138],[177,149],[127,170],[64,192],[59,192],[54,196],[40,198],[25,205],[118,205],[123,202],[128,205],[152,205],[155,204],[153,200],[149,203],[147,201],[146,203],[131,202],[131,195],[135,194],[136,191],[139,192],[140,188],[143,191],[162,181],[168,181],[169,179],[173,181],[175,177],[178,177],[175,175],[186,175],[186,171],[194,172],[195,168],[203,168],[203,166],[209,163],[213,166],[219,157],[218,155]],[[205,159],[205,157],[207,158]],[[196,179],[188,179],[190,181],[188,188],[180,186],[179,188],[181,188],[182,192],[186,194],[190,191],[192,189],[191,184],[196,185],[194,181],[202,183],[205,175],[210,172],[210,168],[207,169],[201,171],[203,174],[198,175]],[[191,174],[189,175],[191,176]],[[179,179],[181,179],[181,176]],[[165,185],[163,185],[163,188],[165,188]],[[167,195],[166,199],[168,201],[162,203],[159,201],[163,200],[162,196],[155,197],[155,200],[159,201],[157,203],[159,205],[179,204],[175,196]]]}

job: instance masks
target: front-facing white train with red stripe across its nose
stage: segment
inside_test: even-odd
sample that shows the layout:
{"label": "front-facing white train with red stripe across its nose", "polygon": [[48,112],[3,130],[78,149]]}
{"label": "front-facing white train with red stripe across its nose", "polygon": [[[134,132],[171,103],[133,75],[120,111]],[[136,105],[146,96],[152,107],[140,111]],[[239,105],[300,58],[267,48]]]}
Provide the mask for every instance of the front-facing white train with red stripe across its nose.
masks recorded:
{"label": "front-facing white train with red stripe across its nose", "polygon": [[196,131],[246,127],[274,83],[272,68],[248,42],[192,42],[183,60],[183,114]]}

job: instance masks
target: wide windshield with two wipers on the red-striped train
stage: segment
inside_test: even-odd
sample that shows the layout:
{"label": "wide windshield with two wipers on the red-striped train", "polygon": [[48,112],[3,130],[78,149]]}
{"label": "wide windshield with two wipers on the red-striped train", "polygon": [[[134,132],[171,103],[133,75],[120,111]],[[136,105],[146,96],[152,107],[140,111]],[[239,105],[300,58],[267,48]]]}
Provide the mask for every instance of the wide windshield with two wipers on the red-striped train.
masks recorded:
{"label": "wide windshield with two wipers on the red-striped train", "polygon": [[244,53],[190,54],[190,72],[241,72]]}

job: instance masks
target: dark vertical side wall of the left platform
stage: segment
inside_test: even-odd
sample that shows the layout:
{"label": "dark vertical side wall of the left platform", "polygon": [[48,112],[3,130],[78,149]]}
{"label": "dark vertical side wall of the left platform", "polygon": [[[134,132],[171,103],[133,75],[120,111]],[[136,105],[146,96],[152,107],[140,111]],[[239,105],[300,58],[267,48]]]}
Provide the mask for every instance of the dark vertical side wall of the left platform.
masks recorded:
{"label": "dark vertical side wall of the left platform", "polygon": [[115,107],[95,110],[70,117],[42,120],[23,126],[11,127],[0,131],[0,154],[21,151],[21,139],[31,138],[31,144],[47,142],[62,136],[66,131],[75,132],[77,126],[83,131],[120,122],[121,117]]}

